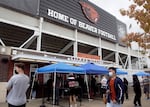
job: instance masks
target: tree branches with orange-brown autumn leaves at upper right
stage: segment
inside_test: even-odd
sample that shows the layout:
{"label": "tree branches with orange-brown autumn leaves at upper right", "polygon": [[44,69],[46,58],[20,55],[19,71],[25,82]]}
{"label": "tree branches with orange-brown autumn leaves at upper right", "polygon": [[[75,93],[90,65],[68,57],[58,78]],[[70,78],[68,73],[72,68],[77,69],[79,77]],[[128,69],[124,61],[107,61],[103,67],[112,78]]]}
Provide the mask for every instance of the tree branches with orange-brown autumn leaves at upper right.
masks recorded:
{"label": "tree branches with orange-brown autumn leaves at upper right", "polygon": [[136,20],[144,30],[144,33],[129,33],[122,41],[128,46],[132,41],[136,41],[145,50],[150,49],[150,0],[133,0],[128,10],[120,9],[120,13]]}

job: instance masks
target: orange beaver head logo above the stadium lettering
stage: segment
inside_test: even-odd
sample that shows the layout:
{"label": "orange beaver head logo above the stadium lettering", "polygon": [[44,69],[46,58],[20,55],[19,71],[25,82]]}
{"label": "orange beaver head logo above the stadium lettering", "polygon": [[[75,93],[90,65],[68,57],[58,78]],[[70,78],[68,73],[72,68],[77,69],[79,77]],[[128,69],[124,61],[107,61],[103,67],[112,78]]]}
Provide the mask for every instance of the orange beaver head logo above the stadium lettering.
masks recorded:
{"label": "orange beaver head logo above the stadium lettering", "polygon": [[84,1],[79,1],[83,13],[84,15],[87,17],[87,19],[89,21],[91,21],[92,23],[97,23],[98,19],[99,19],[99,14],[98,12],[88,3],[84,2]]}

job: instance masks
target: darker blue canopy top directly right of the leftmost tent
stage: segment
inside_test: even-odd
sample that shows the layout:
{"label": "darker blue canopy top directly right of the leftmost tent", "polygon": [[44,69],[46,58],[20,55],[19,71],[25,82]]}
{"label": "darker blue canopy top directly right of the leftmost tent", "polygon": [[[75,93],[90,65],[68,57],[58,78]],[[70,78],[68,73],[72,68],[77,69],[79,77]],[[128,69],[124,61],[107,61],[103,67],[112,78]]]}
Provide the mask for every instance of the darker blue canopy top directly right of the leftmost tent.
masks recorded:
{"label": "darker blue canopy top directly right of the leftmost tent", "polygon": [[95,65],[94,63],[87,63],[80,67],[85,69],[86,74],[108,74],[107,68]]}

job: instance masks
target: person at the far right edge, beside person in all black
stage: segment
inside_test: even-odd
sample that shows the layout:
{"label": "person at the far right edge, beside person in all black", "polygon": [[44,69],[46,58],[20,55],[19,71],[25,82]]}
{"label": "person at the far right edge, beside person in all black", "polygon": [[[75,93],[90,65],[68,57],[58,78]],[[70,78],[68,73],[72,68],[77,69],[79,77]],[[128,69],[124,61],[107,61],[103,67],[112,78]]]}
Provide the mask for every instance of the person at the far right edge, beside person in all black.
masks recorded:
{"label": "person at the far right edge, beside person in all black", "polygon": [[150,99],[150,97],[149,97],[149,88],[150,88],[149,83],[150,83],[150,81],[149,81],[148,76],[144,77],[144,79],[143,79],[143,90],[144,90],[144,94],[145,94],[147,100]]}

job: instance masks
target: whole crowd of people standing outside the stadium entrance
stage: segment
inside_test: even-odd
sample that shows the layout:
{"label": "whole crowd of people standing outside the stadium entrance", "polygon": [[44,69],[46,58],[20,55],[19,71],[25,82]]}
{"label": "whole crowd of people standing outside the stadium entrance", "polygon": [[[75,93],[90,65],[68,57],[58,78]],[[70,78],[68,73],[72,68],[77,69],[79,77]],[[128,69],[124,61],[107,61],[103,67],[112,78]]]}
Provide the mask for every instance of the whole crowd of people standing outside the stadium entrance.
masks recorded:
{"label": "whole crowd of people standing outside the stadium entrance", "polygon": [[[15,70],[17,75],[13,75],[8,81],[7,90],[7,102],[8,107],[25,107],[26,106],[26,91],[29,88],[29,77],[24,74],[25,66],[23,63],[15,64]],[[91,80],[92,81],[92,80]],[[37,80],[35,81],[37,82]],[[147,99],[149,99],[149,80],[144,79],[144,93]],[[52,78],[47,81],[47,85],[51,84],[48,95],[52,92],[52,87],[54,86]],[[76,103],[76,87],[81,86],[81,93],[83,93],[84,79],[80,76],[76,79],[73,74],[70,74],[67,78],[67,87],[69,89],[69,102],[70,107],[77,107]],[[91,84],[92,85],[92,84]],[[56,78],[55,84],[55,104],[59,104],[59,90],[61,86],[61,79]],[[109,78],[105,76],[101,79],[101,91],[103,94],[103,100],[106,103],[106,107],[122,107],[125,98],[128,99],[128,81],[124,78],[122,81],[116,75],[116,68],[109,68]],[[141,85],[136,75],[133,75],[133,89],[135,92],[134,105],[135,107],[141,107]],[[33,98],[35,98],[35,93],[33,92]],[[48,100],[49,100],[48,96]],[[82,96],[81,96],[82,97]]]}

